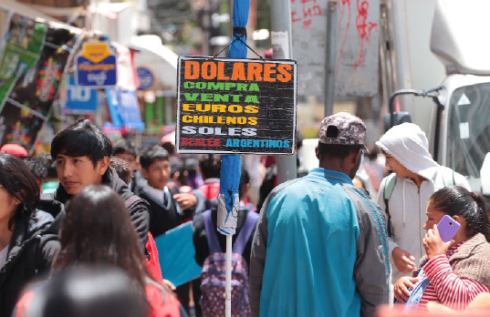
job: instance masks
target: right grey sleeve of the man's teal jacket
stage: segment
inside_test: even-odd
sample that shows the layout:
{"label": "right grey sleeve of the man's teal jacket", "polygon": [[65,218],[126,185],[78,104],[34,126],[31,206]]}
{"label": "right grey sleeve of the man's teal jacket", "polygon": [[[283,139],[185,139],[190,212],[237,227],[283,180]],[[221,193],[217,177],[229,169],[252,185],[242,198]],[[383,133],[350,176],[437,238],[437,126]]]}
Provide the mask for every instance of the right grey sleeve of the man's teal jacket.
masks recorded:
{"label": "right grey sleeve of the man's teal jacket", "polygon": [[361,191],[345,187],[359,225],[354,279],[361,297],[360,316],[374,317],[378,305],[388,304],[389,258],[386,229],[379,208]]}

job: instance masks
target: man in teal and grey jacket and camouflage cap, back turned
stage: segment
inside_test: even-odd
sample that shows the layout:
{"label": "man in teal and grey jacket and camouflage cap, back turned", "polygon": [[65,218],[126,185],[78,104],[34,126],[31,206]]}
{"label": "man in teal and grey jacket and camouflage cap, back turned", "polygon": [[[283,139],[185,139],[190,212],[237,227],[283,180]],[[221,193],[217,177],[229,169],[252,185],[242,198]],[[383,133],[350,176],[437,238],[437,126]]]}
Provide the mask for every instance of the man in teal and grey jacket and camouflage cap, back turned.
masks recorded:
{"label": "man in teal and grey jacket and camouflage cap, back turned", "polygon": [[252,316],[375,316],[388,303],[383,218],[351,181],[365,138],[356,116],[326,117],[315,149],[319,168],[265,200],[250,257]]}

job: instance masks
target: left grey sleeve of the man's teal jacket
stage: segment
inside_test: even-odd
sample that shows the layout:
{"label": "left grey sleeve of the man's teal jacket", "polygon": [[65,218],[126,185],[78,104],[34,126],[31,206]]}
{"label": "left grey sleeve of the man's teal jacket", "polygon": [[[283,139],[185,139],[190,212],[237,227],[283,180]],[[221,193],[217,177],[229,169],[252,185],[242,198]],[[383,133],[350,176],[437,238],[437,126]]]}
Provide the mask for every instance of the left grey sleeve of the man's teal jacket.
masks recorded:
{"label": "left grey sleeve of the man's teal jacket", "polygon": [[267,206],[270,201],[267,197],[260,210],[257,226],[252,240],[250,253],[250,309],[253,317],[258,317],[260,311],[260,291],[262,290],[262,274],[265,265],[265,252],[267,247]]}

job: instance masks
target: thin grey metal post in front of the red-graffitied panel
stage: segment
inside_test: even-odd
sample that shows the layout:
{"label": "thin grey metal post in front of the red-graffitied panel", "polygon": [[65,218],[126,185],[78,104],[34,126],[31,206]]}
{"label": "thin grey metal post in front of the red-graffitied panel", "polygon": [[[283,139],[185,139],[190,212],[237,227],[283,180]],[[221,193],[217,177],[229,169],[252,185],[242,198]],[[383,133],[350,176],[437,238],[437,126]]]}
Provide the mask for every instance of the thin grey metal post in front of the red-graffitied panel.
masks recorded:
{"label": "thin grey metal post in front of the red-graffitied panel", "polygon": [[326,9],[326,52],[325,52],[325,117],[333,114],[335,96],[335,60],[337,45],[337,3],[328,1]]}

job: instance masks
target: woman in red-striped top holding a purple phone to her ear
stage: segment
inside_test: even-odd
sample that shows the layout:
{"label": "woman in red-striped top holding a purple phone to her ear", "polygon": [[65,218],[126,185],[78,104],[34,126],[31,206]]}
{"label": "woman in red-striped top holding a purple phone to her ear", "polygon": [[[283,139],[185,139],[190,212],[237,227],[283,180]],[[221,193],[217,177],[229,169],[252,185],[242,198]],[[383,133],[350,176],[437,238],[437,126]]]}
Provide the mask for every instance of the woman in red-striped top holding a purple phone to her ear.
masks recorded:
{"label": "woman in red-striped top holding a purple phone to her ear", "polygon": [[396,281],[394,296],[406,309],[426,310],[427,302],[435,301],[463,310],[476,295],[490,292],[485,200],[460,186],[444,187],[430,196],[426,215],[426,255],[411,278]]}

